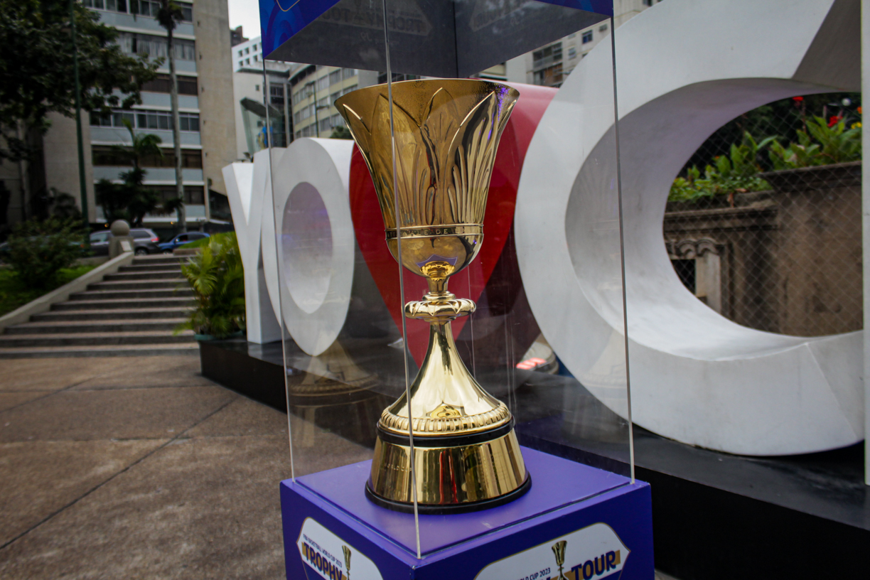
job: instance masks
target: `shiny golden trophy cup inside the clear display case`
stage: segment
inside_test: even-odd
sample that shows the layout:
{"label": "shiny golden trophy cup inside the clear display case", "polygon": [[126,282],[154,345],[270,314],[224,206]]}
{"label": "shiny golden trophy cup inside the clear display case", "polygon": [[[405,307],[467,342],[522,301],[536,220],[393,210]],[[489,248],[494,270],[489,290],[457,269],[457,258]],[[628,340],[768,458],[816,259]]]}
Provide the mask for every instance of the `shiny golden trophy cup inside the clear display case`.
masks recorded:
{"label": "shiny golden trophy cup inside the clear display case", "polygon": [[430,323],[429,348],[410,400],[399,397],[378,421],[365,488],[393,510],[412,510],[412,461],[420,513],[490,508],[531,485],[511,411],[474,380],[453,342],[451,321],[475,305],[447,290],[483,243],[499,137],[518,97],[503,84],[471,79],[392,83],[395,190],[387,85],[335,103],[375,183],[393,257],[429,285],[423,300],[405,304],[405,317]]}

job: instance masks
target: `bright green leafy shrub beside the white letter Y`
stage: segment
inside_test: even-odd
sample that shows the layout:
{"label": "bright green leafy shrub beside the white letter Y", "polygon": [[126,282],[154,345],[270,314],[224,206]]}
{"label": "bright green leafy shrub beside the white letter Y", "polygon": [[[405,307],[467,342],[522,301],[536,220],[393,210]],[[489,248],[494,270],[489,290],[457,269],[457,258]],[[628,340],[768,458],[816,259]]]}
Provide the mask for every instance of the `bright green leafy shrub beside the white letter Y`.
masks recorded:
{"label": "bright green leafy shrub beside the white letter Y", "polygon": [[244,269],[236,234],[207,238],[203,250],[181,267],[191,284],[196,308],[176,333],[193,330],[225,338],[244,329]]}

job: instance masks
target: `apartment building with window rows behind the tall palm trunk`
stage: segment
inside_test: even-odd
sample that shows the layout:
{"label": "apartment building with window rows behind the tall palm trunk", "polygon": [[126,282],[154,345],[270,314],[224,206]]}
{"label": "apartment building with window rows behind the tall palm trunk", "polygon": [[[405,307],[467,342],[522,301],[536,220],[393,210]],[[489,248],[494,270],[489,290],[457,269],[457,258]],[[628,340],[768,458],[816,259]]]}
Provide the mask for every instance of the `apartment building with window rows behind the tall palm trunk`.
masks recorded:
{"label": "apartment building with window rows behind the tall palm trunk", "polygon": [[[167,57],[166,30],[157,23],[159,3],[151,0],[83,0],[103,23],[120,31],[118,43],[131,55]],[[178,83],[182,177],[187,226],[197,228],[210,218],[210,196],[225,197],[221,168],[236,159],[236,127],[232,115],[231,30],[226,0],[179,2],[183,21],[174,31],[174,54]],[[85,171],[91,222],[103,221],[95,207],[93,184],[100,179],[119,183],[129,170],[112,151],[113,145],[131,144],[124,121],[137,134],[154,134],[163,141],[163,157],[145,160],[145,185],[164,198],[175,197],[175,153],[172,140],[169,63],[146,83],[141,105],[132,110],[114,110],[109,115],[83,117]],[[45,137],[47,186],[79,196],[75,122],[52,119]],[[222,200],[221,200],[222,201]],[[175,215],[149,216],[146,225],[167,233],[174,229]]]}

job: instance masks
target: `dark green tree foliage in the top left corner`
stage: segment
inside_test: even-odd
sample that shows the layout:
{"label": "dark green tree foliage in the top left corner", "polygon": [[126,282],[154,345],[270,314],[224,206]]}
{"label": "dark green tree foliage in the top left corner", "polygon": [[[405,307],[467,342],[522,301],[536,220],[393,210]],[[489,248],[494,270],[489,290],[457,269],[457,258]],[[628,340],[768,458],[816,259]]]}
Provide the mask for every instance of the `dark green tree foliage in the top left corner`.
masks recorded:
{"label": "dark green tree foliage in the top left corner", "polygon": [[[124,54],[119,32],[99,23],[81,3],[76,19],[79,81],[84,110],[108,112],[142,103],[142,84],[157,76],[162,59]],[[67,0],[0,0],[0,159],[23,159],[32,150],[24,133],[49,129],[48,114],[75,114],[73,43]]]}

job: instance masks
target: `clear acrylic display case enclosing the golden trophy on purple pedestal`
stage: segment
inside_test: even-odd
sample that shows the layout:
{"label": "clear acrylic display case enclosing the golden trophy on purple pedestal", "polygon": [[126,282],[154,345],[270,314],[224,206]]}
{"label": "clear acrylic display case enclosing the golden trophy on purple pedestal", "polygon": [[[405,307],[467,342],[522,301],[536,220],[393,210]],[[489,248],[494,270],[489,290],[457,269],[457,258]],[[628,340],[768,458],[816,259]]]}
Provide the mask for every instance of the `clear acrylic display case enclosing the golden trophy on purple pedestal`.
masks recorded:
{"label": "clear acrylic display case enclosing the golden trophy on purple pedestal", "polygon": [[[338,6],[344,10],[345,4]],[[380,513],[385,527],[378,533],[417,557],[513,521],[496,510],[465,515],[420,510],[421,503],[432,501],[432,490],[437,497],[462,495],[446,489],[449,478],[437,484],[428,481],[425,474],[432,471],[421,471],[425,460],[407,462],[405,457],[405,463],[393,465],[401,472],[393,483],[413,482],[410,506],[405,505],[409,513],[392,511],[385,517],[383,508],[365,496],[376,456],[378,420],[397,399],[410,395],[429,347],[431,324],[423,317],[405,317],[406,303],[422,302],[427,292],[440,288],[420,275],[424,265],[440,262],[450,270],[467,263],[450,275],[446,290],[459,302],[472,301],[474,311],[451,323],[451,338],[474,380],[504,403],[523,451],[529,457],[539,450],[622,476],[632,474],[615,67],[608,36],[612,19],[583,13],[579,20],[566,20],[582,23],[583,28],[562,30],[565,37],[538,46],[539,39],[552,37],[552,31],[543,30],[542,10],[572,9],[529,0],[515,3],[516,10],[490,14],[473,2],[455,3],[455,30],[471,29],[485,36],[495,34],[492,30],[505,34],[506,27],[517,46],[537,48],[469,75],[519,91],[512,109],[502,111],[510,114],[510,121],[503,127],[497,153],[487,159],[484,147],[474,160],[477,177],[487,174],[486,163],[492,166],[488,195],[481,195],[485,185],[472,183],[468,190],[476,188],[477,197],[464,203],[482,207],[477,213],[463,213],[467,219],[454,216],[453,223],[437,222],[433,214],[429,223],[409,223],[401,211],[407,205],[397,196],[412,195],[421,180],[432,181],[432,174],[425,174],[425,155],[418,156],[416,164],[411,159],[414,147],[407,130],[412,129],[411,117],[422,117],[414,111],[406,115],[407,106],[389,103],[399,91],[406,92],[398,83],[421,78],[415,74],[420,71],[415,62],[428,53],[415,57],[409,50],[417,42],[414,35],[425,37],[419,42],[431,42],[432,37],[448,34],[442,30],[445,23],[427,12],[430,4],[437,3],[418,3],[418,11],[409,13],[391,0],[354,3],[354,10],[365,18],[346,27],[355,40],[343,41],[342,50],[358,50],[352,57],[359,62],[371,62],[373,53],[389,54],[383,61],[385,70],[267,61],[264,95],[269,106],[264,107],[267,126],[262,132],[271,196],[264,204],[264,271],[280,313],[292,477],[359,521],[371,521],[371,514]],[[341,14],[336,12],[331,22],[338,23]],[[592,40],[587,41],[590,30]],[[464,58],[468,62],[460,63],[460,70],[477,62]],[[275,63],[289,67],[280,102],[273,88],[281,82],[269,70]],[[437,77],[425,78],[438,83]],[[380,163],[389,169],[381,184],[391,203],[378,201],[370,168],[334,104],[352,90],[378,83],[391,85],[384,91],[386,105],[379,112],[373,105],[360,110],[362,124],[353,137],[380,140],[365,147],[377,150],[383,157]],[[445,86],[448,83],[455,81],[447,79]],[[424,90],[422,85],[419,90]],[[455,120],[446,111],[465,106],[456,104],[461,98],[445,93],[425,100],[434,103],[428,117],[438,117],[440,123]],[[343,102],[355,101],[349,97]],[[457,123],[463,118],[460,115]],[[383,123],[391,129],[384,132]],[[444,137],[434,137],[429,143],[434,149],[449,132],[444,126],[436,130],[436,124],[430,123],[430,137],[438,130]],[[498,124],[490,123],[490,129],[497,132]],[[362,136],[360,127],[371,134]],[[488,132],[478,131],[478,137],[491,138],[484,135]],[[425,149],[425,143],[421,146]],[[460,176],[460,182],[474,173],[463,170],[467,175]],[[445,183],[452,179],[438,177]],[[418,260],[412,245],[395,243],[395,236],[391,246],[387,243],[387,222],[403,227],[462,226],[468,234],[465,252],[471,248],[473,259],[467,262],[461,252],[442,256],[446,250],[432,245],[431,255]],[[475,237],[476,230],[469,227],[475,225],[482,228],[483,237]],[[399,256],[402,251],[405,255]],[[402,268],[399,258],[406,265],[418,264],[417,272]],[[462,308],[470,310],[467,303]],[[446,335],[443,339],[449,342]],[[426,410],[428,417],[415,416],[422,408],[411,405],[410,421],[401,424],[412,428],[406,435],[392,435],[398,446],[413,450],[413,457],[419,457],[414,454],[426,437],[414,429],[423,428],[428,418],[463,412],[443,404]],[[532,482],[552,477],[531,467],[529,473]],[[348,477],[359,482],[350,495],[347,486],[340,485]],[[614,476],[612,486],[627,483],[626,477]],[[593,495],[582,482],[566,482],[565,490],[566,503]]]}

